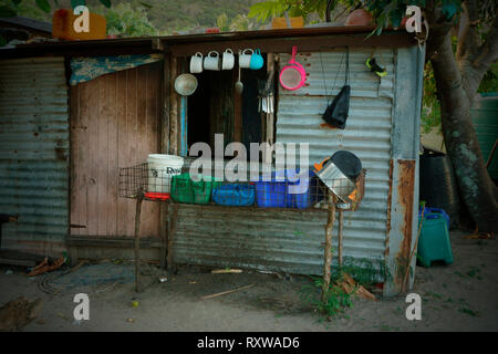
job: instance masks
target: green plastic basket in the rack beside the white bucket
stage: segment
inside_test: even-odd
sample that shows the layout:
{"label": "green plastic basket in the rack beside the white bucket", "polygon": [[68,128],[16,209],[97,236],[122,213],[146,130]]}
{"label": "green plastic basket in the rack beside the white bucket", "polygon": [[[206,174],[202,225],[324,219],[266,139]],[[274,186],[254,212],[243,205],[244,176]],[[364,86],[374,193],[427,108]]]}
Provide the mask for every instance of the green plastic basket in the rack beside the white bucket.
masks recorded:
{"label": "green plastic basket in the rack beside the white bucket", "polygon": [[190,174],[180,174],[172,177],[172,198],[177,202],[208,204],[214,188],[221,183],[210,176],[199,176],[194,181]]}

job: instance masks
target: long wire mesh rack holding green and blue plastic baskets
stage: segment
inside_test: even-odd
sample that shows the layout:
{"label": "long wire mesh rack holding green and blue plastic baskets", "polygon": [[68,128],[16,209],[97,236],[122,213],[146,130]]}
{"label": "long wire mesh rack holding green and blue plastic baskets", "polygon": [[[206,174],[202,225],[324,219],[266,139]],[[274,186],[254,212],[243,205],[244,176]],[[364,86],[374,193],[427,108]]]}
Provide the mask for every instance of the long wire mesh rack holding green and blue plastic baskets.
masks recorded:
{"label": "long wire mesh rack holding green and blue plastic baskets", "polygon": [[364,194],[365,171],[353,181],[323,179],[314,171],[279,170],[253,181],[227,181],[212,176],[172,173],[148,164],[121,168],[120,197],[152,201],[259,208],[308,209],[325,206],[328,192],[343,209],[357,209]]}

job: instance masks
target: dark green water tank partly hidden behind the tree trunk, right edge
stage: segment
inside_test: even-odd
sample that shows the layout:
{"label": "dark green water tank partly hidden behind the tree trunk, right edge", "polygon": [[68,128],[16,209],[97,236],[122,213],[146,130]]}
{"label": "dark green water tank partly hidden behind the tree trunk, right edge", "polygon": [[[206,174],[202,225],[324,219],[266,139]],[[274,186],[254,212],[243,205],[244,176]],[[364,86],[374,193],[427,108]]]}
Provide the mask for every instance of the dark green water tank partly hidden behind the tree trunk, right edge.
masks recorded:
{"label": "dark green water tank partly hidden behind the tree trunk, right edge", "polygon": [[[498,92],[478,95],[470,110],[477,139],[485,162],[491,153],[492,145],[498,138]],[[492,179],[498,179],[498,152],[488,167]]]}

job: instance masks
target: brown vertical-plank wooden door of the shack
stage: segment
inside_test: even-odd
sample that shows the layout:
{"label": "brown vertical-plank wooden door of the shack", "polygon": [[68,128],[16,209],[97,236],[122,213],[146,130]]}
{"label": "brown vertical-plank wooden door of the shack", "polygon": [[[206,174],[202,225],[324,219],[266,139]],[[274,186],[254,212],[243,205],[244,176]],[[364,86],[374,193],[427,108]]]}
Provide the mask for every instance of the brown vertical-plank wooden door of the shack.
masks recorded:
{"label": "brown vertical-plank wooden door of the shack", "polygon": [[[118,173],[159,152],[160,77],[154,63],[71,86],[71,235],[134,235]],[[158,204],[144,202],[141,236],[159,236]]]}

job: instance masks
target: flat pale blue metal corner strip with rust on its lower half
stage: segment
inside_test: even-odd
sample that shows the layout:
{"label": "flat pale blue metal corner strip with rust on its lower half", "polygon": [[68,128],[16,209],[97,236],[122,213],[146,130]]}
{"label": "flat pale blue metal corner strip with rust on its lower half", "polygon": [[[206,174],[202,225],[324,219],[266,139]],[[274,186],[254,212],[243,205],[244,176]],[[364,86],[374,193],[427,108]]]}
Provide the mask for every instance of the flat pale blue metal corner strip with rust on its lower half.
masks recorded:
{"label": "flat pale blue metal corner strip with rust on its lower half", "polygon": [[[384,287],[386,296],[402,291],[409,253],[418,230],[418,150],[424,48],[397,49],[393,106],[390,214],[386,238],[386,264],[393,275]],[[415,277],[415,259],[409,287]],[[409,288],[408,287],[408,288]]]}

